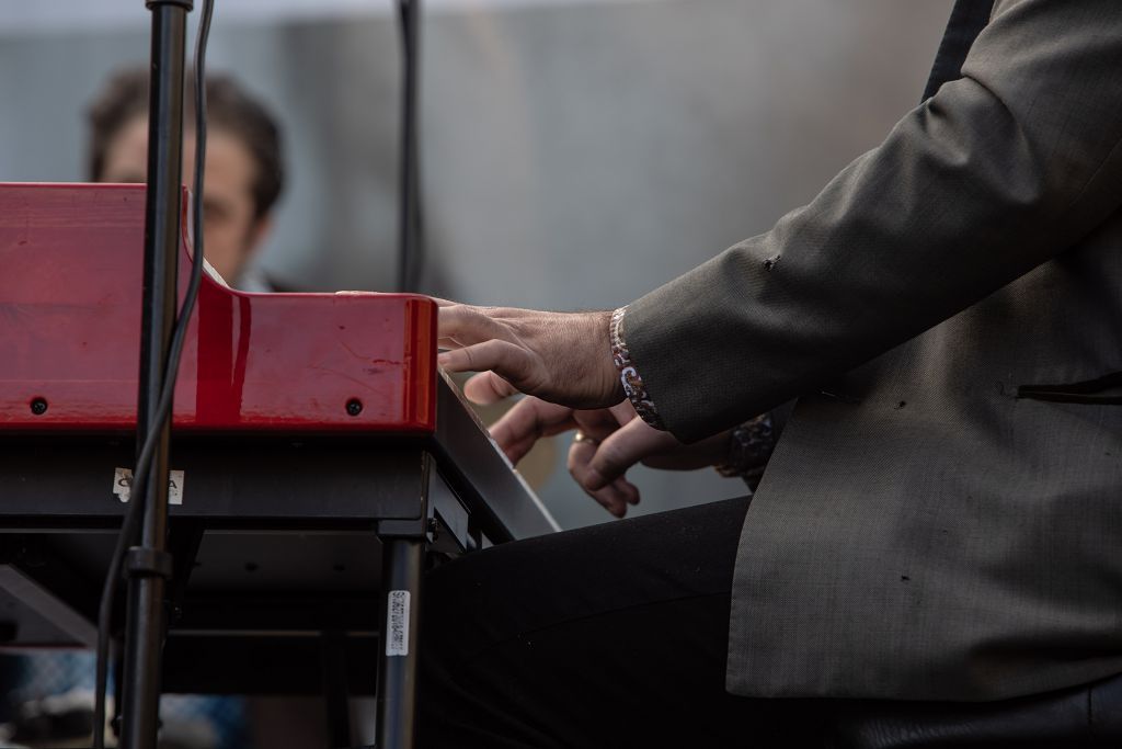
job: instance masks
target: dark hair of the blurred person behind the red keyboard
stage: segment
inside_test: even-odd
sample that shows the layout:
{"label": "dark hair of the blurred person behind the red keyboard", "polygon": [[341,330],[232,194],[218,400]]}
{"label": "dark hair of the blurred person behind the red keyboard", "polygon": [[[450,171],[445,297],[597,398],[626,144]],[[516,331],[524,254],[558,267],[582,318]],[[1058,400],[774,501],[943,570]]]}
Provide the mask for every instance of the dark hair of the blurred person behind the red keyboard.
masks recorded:
{"label": "dark hair of the blurred person behind the red keyboard", "polygon": [[[194,84],[190,75],[186,89],[184,126],[191,129],[194,127]],[[88,110],[91,180],[101,179],[109,145],[138,115],[148,115],[148,68],[120,70],[110,76]],[[222,73],[206,77],[206,120],[236,135],[249,149],[256,166],[254,217],[261,218],[273,208],[284,186],[280,129],[276,120],[260,101]]]}

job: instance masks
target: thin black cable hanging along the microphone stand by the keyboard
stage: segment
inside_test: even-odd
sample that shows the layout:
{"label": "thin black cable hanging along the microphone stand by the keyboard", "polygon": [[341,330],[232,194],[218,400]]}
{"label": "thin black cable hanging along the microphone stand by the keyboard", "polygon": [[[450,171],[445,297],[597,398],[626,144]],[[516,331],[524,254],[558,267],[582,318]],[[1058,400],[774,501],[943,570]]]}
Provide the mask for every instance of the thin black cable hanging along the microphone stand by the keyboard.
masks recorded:
{"label": "thin black cable hanging along the microphone stand by the keyboard", "polygon": [[98,608],[98,666],[96,682],[94,686],[94,712],[93,712],[93,746],[94,749],[104,749],[105,746],[105,692],[109,682],[109,641],[110,628],[112,627],[113,599],[117,586],[120,583],[121,567],[125,564],[125,555],[132,546],[139,530],[140,520],[144,518],[144,497],[148,485],[148,475],[151,469],[151,459],[156,454],[158,436],[163,431],[163,424],[172,418],[172,396],[175,393],[175,380],[180,371],[180,357],[183,354],[183,345],[187,337],[187,326],[191,314],[195,308],[195,300],[199,298],[199,287],[203,277],[203,172],[206,162],[206,40],[210,36],[211,16],[214,12],[214,0],[203,0],[202,15],[199,19],[199,31],[195,35],[195,179],[194,179],[194,201],[191,210],[192,232],[194,234],[194,257],[191,264],[191,282],[187,285],[186,295],[176,317],[175,330],[172,335],[172,345],[167,354],[167,365],[164,372],[164,386],[159,394],[159,403],[156,407],[155,419],[148,436],[144,441],[144,447],[137,457],[137,465],[132,472],[132,486],[129,491],[129,506],[121,521],[121,530],[117,537],[117,546],[113,547],[113,555],[109,561],[109,572],[105,575],[104,586],[101,591],[101,604]]}

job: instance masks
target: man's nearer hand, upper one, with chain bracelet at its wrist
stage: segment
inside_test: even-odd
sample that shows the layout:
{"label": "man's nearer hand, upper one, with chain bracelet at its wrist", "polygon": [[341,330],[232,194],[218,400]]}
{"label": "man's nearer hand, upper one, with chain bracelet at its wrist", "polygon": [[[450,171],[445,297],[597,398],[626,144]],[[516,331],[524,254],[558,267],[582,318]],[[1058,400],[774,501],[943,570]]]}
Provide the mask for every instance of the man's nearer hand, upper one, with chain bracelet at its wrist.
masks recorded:
{"label": "man's nearer hand, upper one, with chain bracelet at its wrist", "polygon": [[449,372],[480,372],[477,403],[522,392],[552,403],[604,408],[624,400],[611,362],[611,312],[539,312],[440,301],[439,357]]}

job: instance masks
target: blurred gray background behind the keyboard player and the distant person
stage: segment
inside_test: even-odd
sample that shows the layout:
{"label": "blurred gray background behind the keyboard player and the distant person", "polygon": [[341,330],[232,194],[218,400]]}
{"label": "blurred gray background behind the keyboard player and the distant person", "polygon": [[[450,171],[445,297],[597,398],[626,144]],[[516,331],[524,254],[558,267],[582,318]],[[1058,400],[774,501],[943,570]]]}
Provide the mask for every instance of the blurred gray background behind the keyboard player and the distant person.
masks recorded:
{"label": "blurred gray background behind the keyboard player and the distant person", "polygon": [[[766,230],[916,106],[951,0],[432,0],[421,291],[615,308]],[[302,290],[389,290],[389,0],[218,0],[211,70],[285,126],[291,182],[260,265]],[[0,181],[81,181],[84,110],[148,55],[137,0],[0,0]],[[2,272],[2,271],[0,271]],[[563,527],[608,520],[563,468]],[[546,457],[546,460],[550,458]],[[640,512],[734,496],[636,469]]]}

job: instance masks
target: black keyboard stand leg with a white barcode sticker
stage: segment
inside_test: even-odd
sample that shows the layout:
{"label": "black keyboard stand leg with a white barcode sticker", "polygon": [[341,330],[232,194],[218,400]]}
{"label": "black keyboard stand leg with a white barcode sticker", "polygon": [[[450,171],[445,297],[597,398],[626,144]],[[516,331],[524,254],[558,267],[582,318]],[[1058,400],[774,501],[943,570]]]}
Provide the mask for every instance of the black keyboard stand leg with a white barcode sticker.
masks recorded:
{"label": "black keyboard stand leg with a white barcode sticker", "polygon": [[378,749],[416,743],[417,613],[423,538],[383,539],[383,611],[378,656]]}

